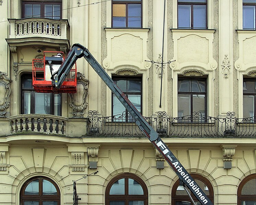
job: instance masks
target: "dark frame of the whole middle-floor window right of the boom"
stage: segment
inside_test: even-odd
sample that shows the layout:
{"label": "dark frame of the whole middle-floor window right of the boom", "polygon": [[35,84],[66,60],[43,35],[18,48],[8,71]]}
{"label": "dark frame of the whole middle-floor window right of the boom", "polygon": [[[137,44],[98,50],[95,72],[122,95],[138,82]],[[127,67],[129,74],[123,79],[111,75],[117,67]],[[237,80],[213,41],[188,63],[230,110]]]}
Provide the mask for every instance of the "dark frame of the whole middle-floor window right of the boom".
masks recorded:
{"label": "dark frame of the whole middle-floor window right of the boom", "polygon": [[[177,85],[179,84],[179,80],[205,80],[205,92],[193,92],[191,91],[178,91],[179,87],[177,86],[177,99],[179,94],[186,94],[186,95],[190,95],[190,117],[191,117],[191,122],[193,122],[193,112],[196,112],[193,110],[193,95],[200,95],[200,94],[204,94],[205,95],[205,115],[207,115],[207,91],[208,91],[208,87],[207,87],[207,78],[186,78],[186,77],[178,77],[177,80]],[[178,103],[178,107],[179,108],[179,103]],[[178,115],[177,115],[178,116]],[[187,115],[183,115],[183,116],[187,116]],[[178,117],[182,117],[182,116],[178,116]]]}

